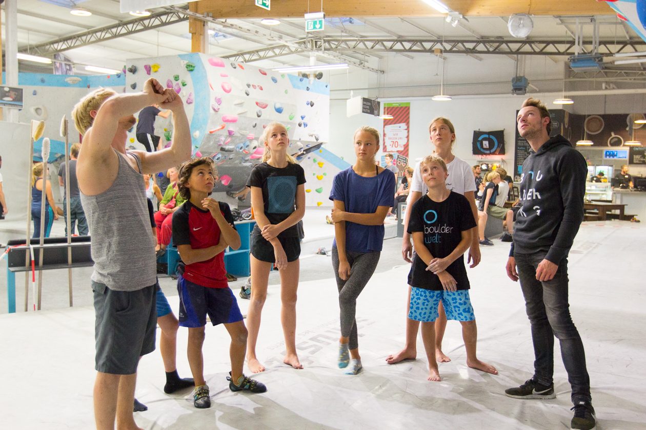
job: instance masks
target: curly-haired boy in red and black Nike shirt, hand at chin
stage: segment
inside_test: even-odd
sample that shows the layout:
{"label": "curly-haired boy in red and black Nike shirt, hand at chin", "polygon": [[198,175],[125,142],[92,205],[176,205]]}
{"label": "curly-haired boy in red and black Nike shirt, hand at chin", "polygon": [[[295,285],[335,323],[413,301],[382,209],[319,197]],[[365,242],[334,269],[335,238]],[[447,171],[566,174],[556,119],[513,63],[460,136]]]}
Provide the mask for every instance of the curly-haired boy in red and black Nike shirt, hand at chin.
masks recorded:
{"label": "curly-haired boy in red and black Nike shirt, hand at chin", "polygon": [[187,201],[172,215],[172,241],[182,257],[177,279],[180,326],[189,327],[189,365],[195,380],[193,404],[200,409],[211,407],[202,357],[207,315],[214,326],[224,324],[231,335],[229,388],[252,393],[267,391],[264,384],[242,373],[247,328],[224,268],[224,250],[227,246],[240,248],[240,235],[233,224],[229,205],[209,197],[215,179],[216,171],[210,157],[182,164],[179,191]]}

